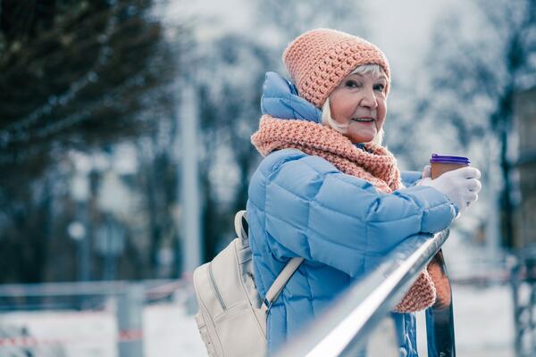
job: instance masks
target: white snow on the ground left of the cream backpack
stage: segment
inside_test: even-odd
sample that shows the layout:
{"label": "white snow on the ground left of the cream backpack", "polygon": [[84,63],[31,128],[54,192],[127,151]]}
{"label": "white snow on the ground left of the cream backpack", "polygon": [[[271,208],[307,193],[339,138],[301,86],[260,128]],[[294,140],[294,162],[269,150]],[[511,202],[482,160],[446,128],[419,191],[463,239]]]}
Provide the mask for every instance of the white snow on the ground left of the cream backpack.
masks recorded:
{"label": "white snow on the ground left of the cream backpack", "polygon": [[[143,320],[146,357],[205,356],[196,322],[184,305],[149,305],[143,311]],[[45,345],[60,342],[66,357],[119,356],[113,311],[7,312],[0,314],[0,326],[27,327],[30,335]],[[0,356],[6,356],[1,344]]]}

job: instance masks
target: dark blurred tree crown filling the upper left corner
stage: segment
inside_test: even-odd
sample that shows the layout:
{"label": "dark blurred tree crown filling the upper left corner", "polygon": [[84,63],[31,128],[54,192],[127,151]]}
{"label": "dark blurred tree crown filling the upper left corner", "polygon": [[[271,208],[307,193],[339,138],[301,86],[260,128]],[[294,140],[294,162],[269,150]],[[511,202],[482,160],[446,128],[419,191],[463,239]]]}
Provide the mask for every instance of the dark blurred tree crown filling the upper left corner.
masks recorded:
{"label": "dark blurred tree crown filling the upper left corner", "polygon": [[0,165],[147,129],[144,110],[169,99],[161,85],[174,68],[151,9],[151,1],[1,3]]}

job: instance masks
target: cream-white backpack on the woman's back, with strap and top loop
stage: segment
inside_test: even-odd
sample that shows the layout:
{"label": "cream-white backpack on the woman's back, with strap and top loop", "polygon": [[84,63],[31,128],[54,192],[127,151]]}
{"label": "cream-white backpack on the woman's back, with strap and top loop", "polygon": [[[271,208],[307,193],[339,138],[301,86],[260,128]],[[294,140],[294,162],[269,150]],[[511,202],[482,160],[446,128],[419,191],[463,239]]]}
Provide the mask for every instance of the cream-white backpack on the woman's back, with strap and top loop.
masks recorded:
{"label": "cream-white backpack on the woman's back, with strap and top loop", "polygon": [[238,237],[194,270],[197,328],[209,356],[266,355],[266,316],[303,258],[292,258],[266,293],[257,292],[247,237],[246,211],[235,216]]}

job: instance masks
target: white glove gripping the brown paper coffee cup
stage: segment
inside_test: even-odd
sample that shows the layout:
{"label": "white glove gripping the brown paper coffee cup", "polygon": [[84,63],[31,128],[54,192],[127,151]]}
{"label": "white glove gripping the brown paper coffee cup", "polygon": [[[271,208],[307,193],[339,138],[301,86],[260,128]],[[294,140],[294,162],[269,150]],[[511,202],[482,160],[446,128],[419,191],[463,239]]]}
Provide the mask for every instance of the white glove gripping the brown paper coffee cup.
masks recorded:
{"label": "white glove gripping the brown paper coffee cup", "polygon": [[[424,170],[426,171],[426,167]],[[419,184],[440,190],[450,202],[457,205],[459,215],[478,199],[482,188],[480,177],[480,170],[468,166],[445,172],[437,179],[424,178]]]}

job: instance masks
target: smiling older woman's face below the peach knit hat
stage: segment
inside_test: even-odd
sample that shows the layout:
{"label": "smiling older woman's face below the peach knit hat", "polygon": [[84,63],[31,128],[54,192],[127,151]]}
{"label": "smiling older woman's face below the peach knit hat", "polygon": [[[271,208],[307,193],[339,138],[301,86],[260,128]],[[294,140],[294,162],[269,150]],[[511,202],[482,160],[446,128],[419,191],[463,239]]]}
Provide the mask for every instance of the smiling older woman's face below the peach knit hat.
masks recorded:
{"label": "smiling older woman's face below the peach knit hat", "polygon": [[352,143],[368,143],[380,132],[387,112],[387,83],[384,75],[353,73],[331,92],[331,118],[347,127],[344,135]]}

